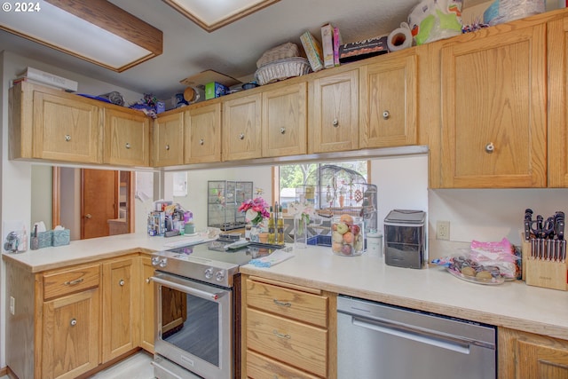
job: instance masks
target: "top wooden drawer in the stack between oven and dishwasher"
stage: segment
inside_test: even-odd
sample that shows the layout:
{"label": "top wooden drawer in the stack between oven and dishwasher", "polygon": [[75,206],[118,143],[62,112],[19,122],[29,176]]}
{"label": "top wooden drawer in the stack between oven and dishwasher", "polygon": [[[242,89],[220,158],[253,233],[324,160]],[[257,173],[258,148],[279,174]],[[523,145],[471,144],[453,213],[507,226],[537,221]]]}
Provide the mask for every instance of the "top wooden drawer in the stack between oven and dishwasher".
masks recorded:
{"label": "top wooden drawer in the stack between oven and dishwasher", "polygon": [[247,280],[247,305],[327,328],[327,296]]}

